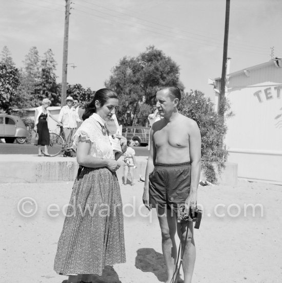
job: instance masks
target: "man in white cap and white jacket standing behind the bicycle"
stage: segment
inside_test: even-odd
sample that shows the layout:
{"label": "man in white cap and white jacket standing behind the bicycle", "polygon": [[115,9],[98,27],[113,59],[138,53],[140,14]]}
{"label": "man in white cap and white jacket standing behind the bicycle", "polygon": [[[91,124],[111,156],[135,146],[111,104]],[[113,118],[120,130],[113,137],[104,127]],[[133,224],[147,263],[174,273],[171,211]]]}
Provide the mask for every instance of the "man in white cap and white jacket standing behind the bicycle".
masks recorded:
{"label": "man in white cap and white jacket standing behind the bicycle", "polygon": [[73,107],[73,98],[71,96],[67,97],[67,105],[61,108],[58,120],[63,123],[66,143],[67,145],[70,145],[77,128],[76,122],[82,122]]}

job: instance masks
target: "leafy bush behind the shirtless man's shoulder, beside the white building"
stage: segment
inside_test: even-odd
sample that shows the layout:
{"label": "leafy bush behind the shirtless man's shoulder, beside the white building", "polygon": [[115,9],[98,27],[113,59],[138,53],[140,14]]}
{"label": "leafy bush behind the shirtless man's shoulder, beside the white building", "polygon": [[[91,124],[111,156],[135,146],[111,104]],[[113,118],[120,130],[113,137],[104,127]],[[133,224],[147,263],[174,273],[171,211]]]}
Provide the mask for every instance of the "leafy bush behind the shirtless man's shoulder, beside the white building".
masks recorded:
{"label": "leafy bush behind the shirtless man's shoulder, beside the white building", "polygon": [[224,119],[214,112],[210,98],[197,90],[183,96],[179,111],[197,122],[202,136],[202,167],[208,181],[216,183],[213,164],[220,173],[228,155],[223,142],[227,131]]}

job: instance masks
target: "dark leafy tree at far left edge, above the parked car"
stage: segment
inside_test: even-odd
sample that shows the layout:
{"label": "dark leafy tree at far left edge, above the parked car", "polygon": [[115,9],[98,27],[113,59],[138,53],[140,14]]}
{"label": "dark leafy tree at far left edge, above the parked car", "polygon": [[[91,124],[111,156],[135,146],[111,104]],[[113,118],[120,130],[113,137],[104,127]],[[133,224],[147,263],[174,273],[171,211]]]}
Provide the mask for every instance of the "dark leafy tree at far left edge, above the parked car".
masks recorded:
{"label": "dark leafy tree at far left edge, above the parked car", "polygon": [[0,110],[10,114],[18,99],[19,71],[7,46],[0,61]]}

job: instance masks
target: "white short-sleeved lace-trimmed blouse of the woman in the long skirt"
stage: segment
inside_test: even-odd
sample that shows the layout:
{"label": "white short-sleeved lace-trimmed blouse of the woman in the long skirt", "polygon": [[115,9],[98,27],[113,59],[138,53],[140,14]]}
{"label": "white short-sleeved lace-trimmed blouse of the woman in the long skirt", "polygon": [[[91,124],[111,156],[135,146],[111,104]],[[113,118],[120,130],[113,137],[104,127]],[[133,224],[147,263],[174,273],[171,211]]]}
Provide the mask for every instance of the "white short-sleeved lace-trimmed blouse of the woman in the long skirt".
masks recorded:
{"label": "white short-sleeved lace-trimmed blouse of the woman in the long skirt", "polygon": [[93,113],[77,129],[73,137],[73,147],[76,149],[79,142],[90,141],[89,155],[98,158],[114,159],[109,136],[102,133],[103,125],[105,125],[105,121],[99,115]]}

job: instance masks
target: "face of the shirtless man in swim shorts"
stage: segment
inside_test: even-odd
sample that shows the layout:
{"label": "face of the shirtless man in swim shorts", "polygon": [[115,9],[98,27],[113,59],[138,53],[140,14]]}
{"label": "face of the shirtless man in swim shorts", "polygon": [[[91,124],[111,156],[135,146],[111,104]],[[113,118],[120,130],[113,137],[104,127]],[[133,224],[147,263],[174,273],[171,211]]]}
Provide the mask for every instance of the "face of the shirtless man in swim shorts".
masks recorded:
{"label": "face of the shirtless man in swim shorts", "polygon": [[170,117],[174,110],[174,100],[170,98],[169,90],[160,90],[156,94],[156,107],[160,117]]}

